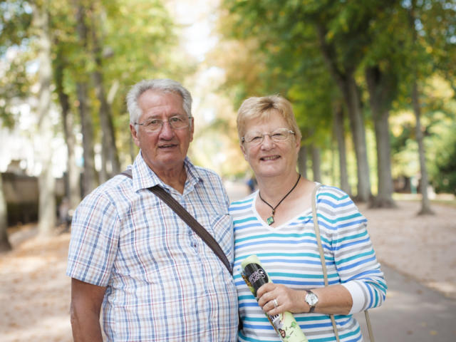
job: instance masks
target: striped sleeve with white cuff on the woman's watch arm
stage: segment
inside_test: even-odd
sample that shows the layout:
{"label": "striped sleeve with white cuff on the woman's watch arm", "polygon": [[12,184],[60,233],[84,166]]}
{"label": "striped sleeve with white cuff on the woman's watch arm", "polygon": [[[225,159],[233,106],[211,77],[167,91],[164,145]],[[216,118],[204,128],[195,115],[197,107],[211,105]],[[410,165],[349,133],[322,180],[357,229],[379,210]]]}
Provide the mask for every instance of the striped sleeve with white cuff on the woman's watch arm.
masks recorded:
{"label": "striped sleeve with white cuff on the woman's watch arm", "polygon": [[350,314],[380,306],[385,301],[385,278],[367,231],[367,219],[346,194],[338,198],[333,224],[336,269],[353,299]]}

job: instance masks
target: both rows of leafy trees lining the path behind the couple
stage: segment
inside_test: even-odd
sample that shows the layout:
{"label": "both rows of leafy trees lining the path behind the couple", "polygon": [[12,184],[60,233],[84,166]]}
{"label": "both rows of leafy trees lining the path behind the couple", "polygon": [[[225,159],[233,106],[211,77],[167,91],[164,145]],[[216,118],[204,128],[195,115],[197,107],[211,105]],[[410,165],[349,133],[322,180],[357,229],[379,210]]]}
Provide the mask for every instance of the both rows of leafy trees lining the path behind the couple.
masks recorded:
{"label": "both rows of leafy trees lining the path behind the couple", "polygon": [[[353,149],[357,198],[372,199],[367,128],[374,132],[377,157],[378,193],[373,204],[394,206],[395,155],[413,137],[420,161],[422,212],[430,212],[423,137],[430,134],[430,123],[447,117],[454,122],[456,117],[454,1],[222,0],[219,15],[222,40],[212,61],[226,73],[225,95],[234,99],[235,108],[247,96],[265,93],[281,93],[294,103],[304,136],[299,158],[303,174],[310,154],[313,177],[320,180],[320,160],[335,140],[341,188],[351,193],[347,151]],[[128,87],[142,78],[182,80],[196,70],[177,43],[178,27],[161,0],[0,3],[0,120],[13,127],[20,103],[30,105],[37,115],[36,129],[28,134],[35,137],[42,170],[41,234],[55,227],[53,138],[63,135],[66,142],[69,200],[76,207],[82,195],[135,155],[124,100]],[[426,92],[435,78],[452,88],[451,103]],[[388,123],[403,110],[415,113],[413,130],[391,135]],[[226,128],[234,120],[224,115],[227,118],[216,120],[213,128],[229,135]],[[351,142],[346,140],[347,128]],[[456,139],[445,134],[439,148],[447,154],[435,162],[442,175],[438,181],[442,188],[456,188]],[[76,167],[76,148],[81,145],[82,193]],[[0,178],[0,249],[7,248]]]}

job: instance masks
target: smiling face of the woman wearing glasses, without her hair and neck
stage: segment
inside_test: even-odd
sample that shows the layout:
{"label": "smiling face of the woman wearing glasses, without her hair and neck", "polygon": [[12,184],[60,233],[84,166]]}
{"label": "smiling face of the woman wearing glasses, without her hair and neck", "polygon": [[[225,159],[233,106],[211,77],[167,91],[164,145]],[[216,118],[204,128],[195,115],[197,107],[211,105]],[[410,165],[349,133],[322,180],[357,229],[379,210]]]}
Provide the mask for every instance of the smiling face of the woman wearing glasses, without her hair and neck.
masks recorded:
{"label": "smiling face of the woman wearing glasses, without her hair and neck", "polygon": [[[290,130],[284,118],[273,112],[268,120],[247,121],[244,137],[274,133],[280,128]],[[252,145],[245,141],[241,145],[241,150],[257,178],[287,176],[296,172],[299,145],[295,135],[289,135],[288,139],[279,142],[272,140],[269,135],[264,135],[261,144]]]}

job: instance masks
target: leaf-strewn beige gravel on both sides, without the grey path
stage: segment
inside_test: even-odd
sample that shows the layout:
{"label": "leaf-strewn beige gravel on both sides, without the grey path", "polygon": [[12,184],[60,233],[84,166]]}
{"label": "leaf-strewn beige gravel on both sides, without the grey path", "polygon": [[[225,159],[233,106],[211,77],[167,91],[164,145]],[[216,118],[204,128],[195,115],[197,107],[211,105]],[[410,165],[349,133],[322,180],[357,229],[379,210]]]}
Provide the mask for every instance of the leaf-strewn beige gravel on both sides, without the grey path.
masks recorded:
{"label": "leaf-strewn beige gravel on both sides, without the grey path", "polygon": [[[433,205],[417,216],[419,202],[398,209],[366,209],[368,231],[381,263],[456,299],[456,208]],[[0,255],[0,339],[73,341],[70,279],[65,275],[70,234],[38,238],[34,227],[11,234],[12,252]]]}

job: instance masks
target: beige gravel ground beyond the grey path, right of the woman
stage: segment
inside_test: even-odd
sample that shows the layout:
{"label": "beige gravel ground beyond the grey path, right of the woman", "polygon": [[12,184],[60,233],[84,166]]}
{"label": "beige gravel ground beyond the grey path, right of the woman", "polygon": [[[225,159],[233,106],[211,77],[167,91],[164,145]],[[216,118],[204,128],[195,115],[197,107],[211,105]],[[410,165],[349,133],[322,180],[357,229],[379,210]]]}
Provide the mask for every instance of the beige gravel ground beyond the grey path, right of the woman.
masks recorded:
{"label": "beige gravel ground beyond the grey path, right of the woman", "polygon": [[456,299],[456,208],[432,205],[435,215],[418,215],[419,202],[397,209],[359,209],[380,263]]}

